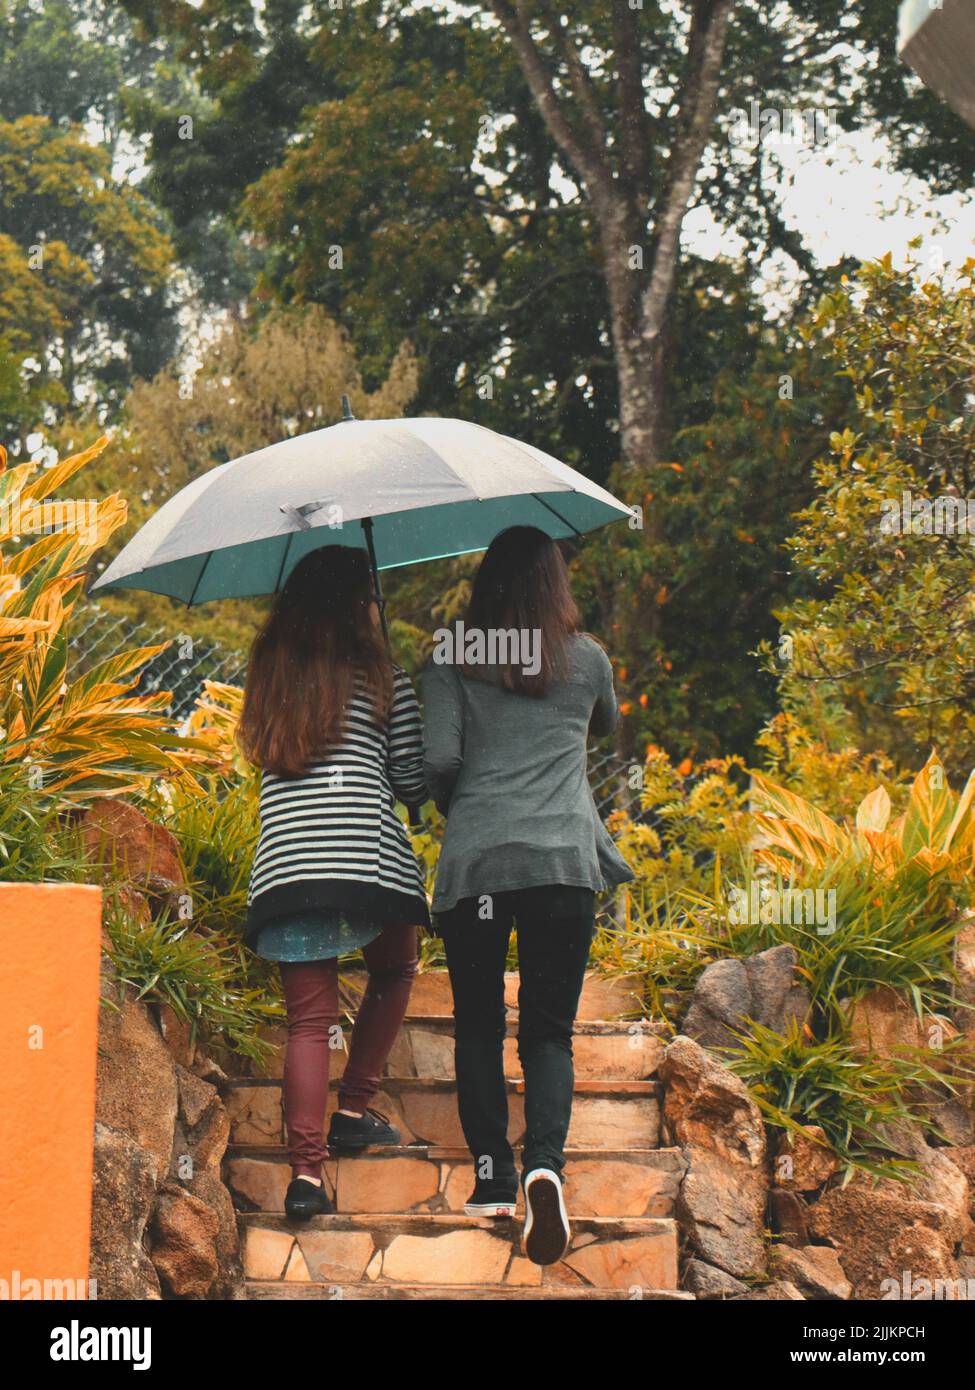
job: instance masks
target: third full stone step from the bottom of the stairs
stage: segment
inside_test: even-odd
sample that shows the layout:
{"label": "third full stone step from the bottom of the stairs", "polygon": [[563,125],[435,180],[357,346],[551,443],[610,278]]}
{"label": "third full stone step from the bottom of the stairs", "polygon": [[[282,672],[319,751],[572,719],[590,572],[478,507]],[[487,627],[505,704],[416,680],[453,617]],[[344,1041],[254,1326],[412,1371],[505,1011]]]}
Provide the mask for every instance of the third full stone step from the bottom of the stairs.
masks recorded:
{"label": "third full stone step from the bottom of the stairs", "polygon": [[[327,1113],[335,1108],[337,1098],[338,1087],[332,1084]],[[285,1143],[278,1080],[231,1081],[224,1102],[232,1144]],[[391,1077],[384,1081],[373,1104],[389,1116],[401,1131],[403,1144],[426,1143],[446,1148],[465,1145],[452,1081]],[[508,1109],[510,1141],[520,1144],[524,1136],[522,1081],[508,1083]],[[656,1148],[659,1133],[661,1108],[654,1081],[576,1081],[569,1147]]]}

